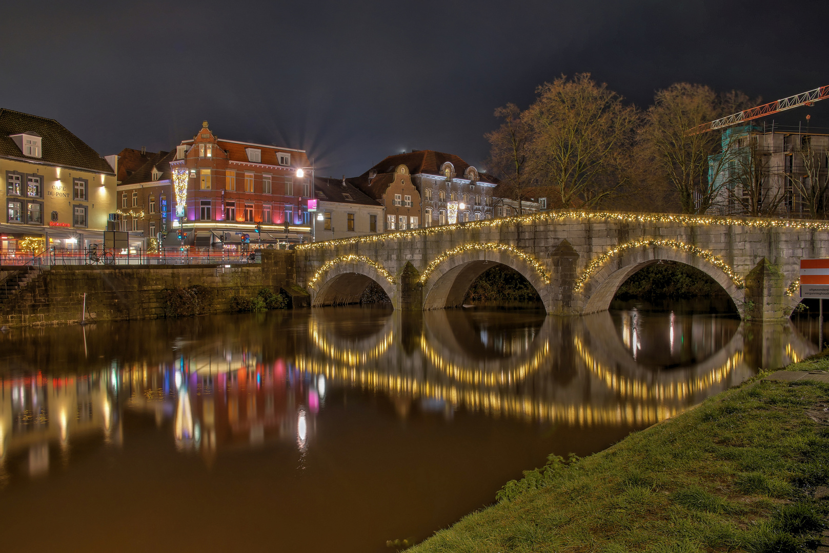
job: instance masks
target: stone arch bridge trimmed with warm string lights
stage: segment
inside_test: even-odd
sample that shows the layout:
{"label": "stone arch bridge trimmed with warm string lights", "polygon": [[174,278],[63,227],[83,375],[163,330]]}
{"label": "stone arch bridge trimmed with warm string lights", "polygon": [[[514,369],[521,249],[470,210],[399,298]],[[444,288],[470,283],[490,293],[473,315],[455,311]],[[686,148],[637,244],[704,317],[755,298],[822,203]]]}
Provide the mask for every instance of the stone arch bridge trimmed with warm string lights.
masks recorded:
{"label": "stone arch bridge trimmed with warm string lights", "polygon": [[651,263],[705,272],[740,315],[788,317],[802,257],[827,257],[829,222],[671,214],[550,211],[296,248],[298,284],[312,305],[359,301],[371,281],[395,309],[461,305],[472,282],[501,263],[536,287],[548,313],[607,310],[618,286]]}

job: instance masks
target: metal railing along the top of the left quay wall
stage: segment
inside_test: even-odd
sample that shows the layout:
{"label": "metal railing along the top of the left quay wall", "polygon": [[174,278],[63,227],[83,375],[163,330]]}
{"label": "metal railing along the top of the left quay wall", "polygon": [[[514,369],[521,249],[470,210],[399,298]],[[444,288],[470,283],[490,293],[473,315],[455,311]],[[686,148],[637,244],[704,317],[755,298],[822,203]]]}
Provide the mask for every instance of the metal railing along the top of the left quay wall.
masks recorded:
{"label": "metal railing along the top of the left quay wall", "polygon": [[46,252],[22,252],[0,249],[3,266],[52,265],[241,265],[261,262],[254,250],[234,252],[214,248],[161,248],[147,252],[143,248],[49,248]]}

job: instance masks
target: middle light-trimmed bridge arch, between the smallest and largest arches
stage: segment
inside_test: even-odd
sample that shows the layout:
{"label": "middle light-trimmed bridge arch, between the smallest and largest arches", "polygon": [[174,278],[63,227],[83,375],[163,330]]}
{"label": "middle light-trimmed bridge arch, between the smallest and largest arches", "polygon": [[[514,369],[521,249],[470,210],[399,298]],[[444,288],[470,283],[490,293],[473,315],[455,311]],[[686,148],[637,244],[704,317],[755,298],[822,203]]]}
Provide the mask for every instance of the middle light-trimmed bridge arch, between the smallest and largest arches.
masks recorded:
{"label": "middle light-trimmed bridge arch, between the smallest and largest arches", "polygon": [[552,310],[550,276],[533,257],[502,244],[473,244],[460,251],[444,252],[421,276],[424,310],[463,305],[469,286],[497,264],[506,265],[526,278],[536,289],[545,310]]}

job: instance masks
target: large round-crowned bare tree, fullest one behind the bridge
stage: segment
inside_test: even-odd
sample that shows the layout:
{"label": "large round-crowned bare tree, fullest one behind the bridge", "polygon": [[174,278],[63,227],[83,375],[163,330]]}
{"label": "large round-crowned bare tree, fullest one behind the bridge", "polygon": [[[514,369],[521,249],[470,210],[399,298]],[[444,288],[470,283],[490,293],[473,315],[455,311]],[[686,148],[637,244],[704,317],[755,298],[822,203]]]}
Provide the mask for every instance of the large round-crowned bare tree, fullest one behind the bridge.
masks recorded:
{"label": "large round-crowned bare tree, fullest one behind the bridge", "polygon": [[589,73],[542,84],[522,119],[531,176],[555,204],[591,208],[626,184],[638,112]]}

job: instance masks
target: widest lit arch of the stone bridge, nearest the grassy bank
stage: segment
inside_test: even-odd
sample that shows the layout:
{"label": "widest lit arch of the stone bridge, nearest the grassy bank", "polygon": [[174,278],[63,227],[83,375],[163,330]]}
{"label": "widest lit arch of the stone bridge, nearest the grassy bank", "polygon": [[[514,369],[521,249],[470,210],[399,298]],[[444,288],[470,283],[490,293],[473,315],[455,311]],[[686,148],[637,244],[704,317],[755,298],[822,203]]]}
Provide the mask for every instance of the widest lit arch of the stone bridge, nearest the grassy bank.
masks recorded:
{"label": "widest lit arch of the stone bridge, nearest the grassy bank", "polygon": [[[708,252],[695,246],[658,238],[642,239],[636,245],[623,244],[613,252],[597,258],[597,267],[588,266],[577,281],[584,296],[584,314],[606,311],[619,286],[642,268],[658,261],[675,261],[691,265],[714,279],[742,309],[744,293],[742,278]],[[739,286],[739,287],[738,287]],[[743,315],[740,313],[740,315]]]}

